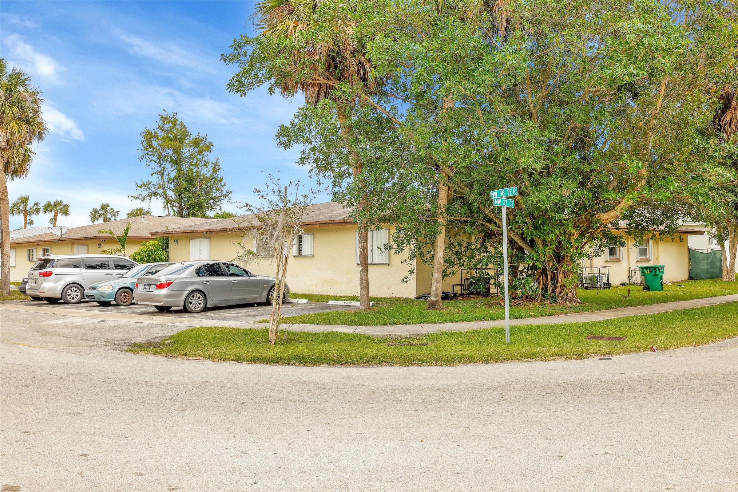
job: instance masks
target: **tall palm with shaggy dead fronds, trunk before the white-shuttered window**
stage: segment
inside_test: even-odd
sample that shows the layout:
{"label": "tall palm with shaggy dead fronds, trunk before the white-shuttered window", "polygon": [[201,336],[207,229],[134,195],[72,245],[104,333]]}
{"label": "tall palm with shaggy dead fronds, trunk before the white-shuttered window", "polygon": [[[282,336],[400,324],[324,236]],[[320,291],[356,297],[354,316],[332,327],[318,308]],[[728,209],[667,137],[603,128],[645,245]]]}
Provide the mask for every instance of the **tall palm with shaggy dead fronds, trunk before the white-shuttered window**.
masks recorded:
{"label": "tall palm with shaggy dead fronds, trunk before the white-shuttered window", "polygon": [[[320,0],[261,0],[255,5],[255,25],[260,36],[271,38],[294,38],[298,32],[308,29],[314,19]],[[378,81],[371,76],[373,65],[363,46],[356,46],[351,39],[354,25],[346,23],[335,30],[335,37],[323,44],[314,44],[300,53],[302,59],[315,60],[316,69],[311,80],[304,80],[298,74],[294,79],[278,80],[280,92],[284,97],[291,97],[300,91],[305,95],[305,102],[317,105],[324,99],[336,104],[337,118],[341,125],[341,135],[347,147],[350,145],[352,130],[349,121],[356,105],[356,99],[345,100],[339,96],[337,83],[351,81],[362,86],[362,90],[371,93],[376,90]],[[295,71],[300,72],[300,70]],[[349,149],[350,150],[350,149]],[[362,181],[362,161],[356,150],[349,151],[351,173],[356,181]],[[368,209],[366,193],[359,199],[357,209],[359,216],[364,217]],[[358,221],[359,229],[359,300],[361,309],[369,309],[369,229],[364,219]]]}

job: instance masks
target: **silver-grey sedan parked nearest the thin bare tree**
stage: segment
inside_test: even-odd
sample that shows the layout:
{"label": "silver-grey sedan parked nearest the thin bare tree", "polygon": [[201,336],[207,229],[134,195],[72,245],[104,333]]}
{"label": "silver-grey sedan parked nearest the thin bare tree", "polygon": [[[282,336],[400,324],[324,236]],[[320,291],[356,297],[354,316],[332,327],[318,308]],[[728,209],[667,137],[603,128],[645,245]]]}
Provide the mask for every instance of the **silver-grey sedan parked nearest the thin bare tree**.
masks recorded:
{"label": "silver-grey sedan parked nearest the thin bare tree", "polygon": [[[289,288],[285,285],[285,298]],[[227,261],[183,261],[156,275],[138,277],[134,300],[159,311],[184,308],[200,313],[211,306],[274,302],[275,279]]]}

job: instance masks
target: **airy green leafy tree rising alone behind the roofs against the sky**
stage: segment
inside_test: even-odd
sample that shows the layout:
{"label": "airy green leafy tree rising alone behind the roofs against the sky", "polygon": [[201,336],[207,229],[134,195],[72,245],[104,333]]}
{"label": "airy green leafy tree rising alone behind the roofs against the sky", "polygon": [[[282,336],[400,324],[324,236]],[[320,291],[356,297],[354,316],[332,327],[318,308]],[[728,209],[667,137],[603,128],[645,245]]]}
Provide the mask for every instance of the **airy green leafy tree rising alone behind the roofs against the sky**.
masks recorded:
{"label": "airy green leafy tree rising alone behind the roofs against the sky", "polygon": [[207,217],[231,195],[218,158],[210,156],[213,142],[207,135],[193,135],[176,113],[165,111],[156,128],[144,128],[139,152],[152,179],[137,181],[140,193],[131,198],[159,200],[166,215]]}

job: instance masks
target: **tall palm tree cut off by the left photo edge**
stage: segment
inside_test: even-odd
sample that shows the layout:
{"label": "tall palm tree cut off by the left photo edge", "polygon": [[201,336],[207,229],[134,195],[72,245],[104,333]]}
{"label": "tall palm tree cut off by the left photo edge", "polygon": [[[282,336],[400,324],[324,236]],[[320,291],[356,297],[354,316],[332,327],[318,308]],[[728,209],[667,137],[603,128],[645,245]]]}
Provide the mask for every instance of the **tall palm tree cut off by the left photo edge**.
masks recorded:
{"label": "tall palm tree cut off by the left photo edge", "polygon": [[5,58],[0,58],[0,291],[3,294],[10,294],[7,180],[28,175],[34,155],[31,144],[46,136],[41,101],[41,91],[31,86],[31,77],[21,69],[10,69]]}

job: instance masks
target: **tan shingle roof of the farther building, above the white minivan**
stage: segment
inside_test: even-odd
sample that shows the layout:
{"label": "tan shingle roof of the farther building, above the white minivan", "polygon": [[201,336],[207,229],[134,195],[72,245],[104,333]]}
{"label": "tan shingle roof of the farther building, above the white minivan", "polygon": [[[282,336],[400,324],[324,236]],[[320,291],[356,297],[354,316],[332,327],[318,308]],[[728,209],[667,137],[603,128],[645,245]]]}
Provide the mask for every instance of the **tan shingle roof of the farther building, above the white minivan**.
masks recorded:
{"label": "tan shingle roof of the farther building, above the white minivan", "polygon": [[[70,227],[64,233],[61,240],[110,238],[110,235],[100,234],[100,232],[97,231],[101,229],[111,229],[111,231],[116,235],[120,235],[129,222],[131,223],[131,231],[128,232],[129,239],[151,239],[151,232],[154,231],[161,231],[162,229],[171,229],[174,227],[193,226],[194,224],[209,224],[211,222],[218,222],[218,219],[139,215],[137,217],[122,218],[117,221],[98,222],[97,224],[89,224],[89,226]],[[11,239],[10,244],[51,243],[59,240],[58,235],[55,235],[52,232],[47,232],[46,234],[35,235],[30,238]]]}

